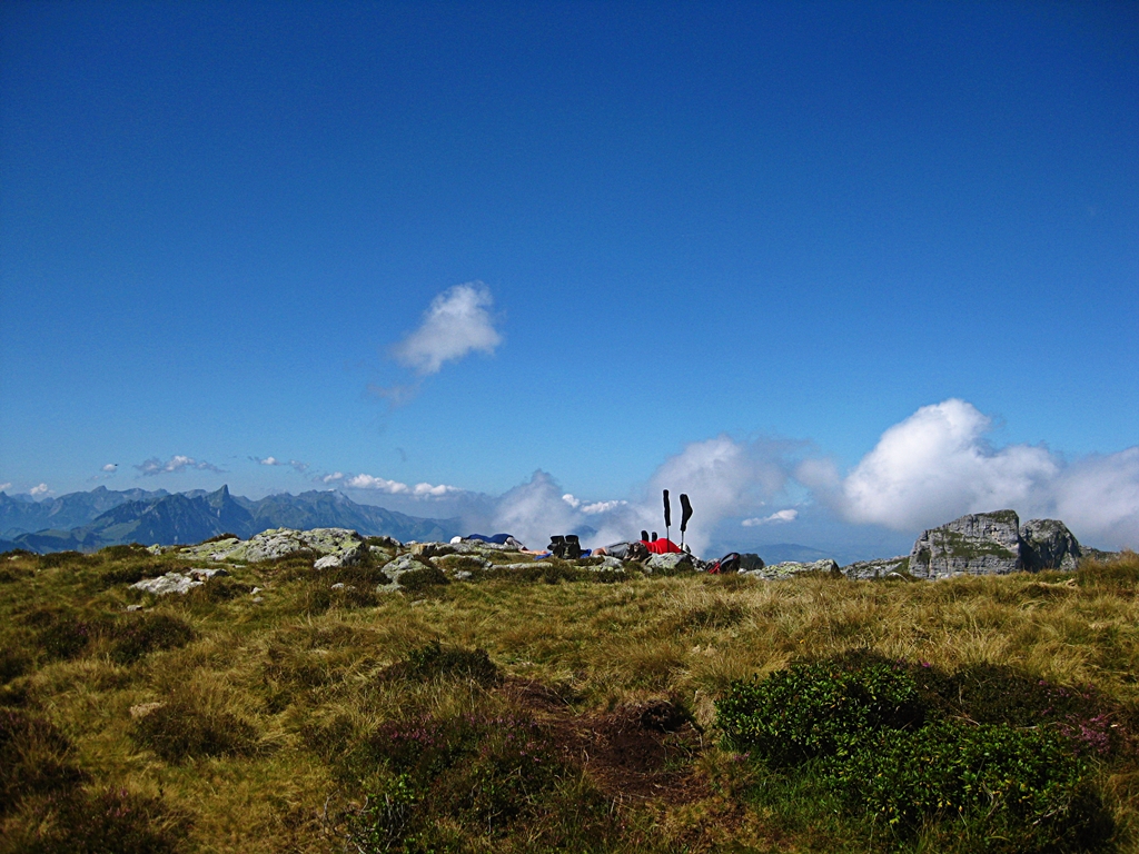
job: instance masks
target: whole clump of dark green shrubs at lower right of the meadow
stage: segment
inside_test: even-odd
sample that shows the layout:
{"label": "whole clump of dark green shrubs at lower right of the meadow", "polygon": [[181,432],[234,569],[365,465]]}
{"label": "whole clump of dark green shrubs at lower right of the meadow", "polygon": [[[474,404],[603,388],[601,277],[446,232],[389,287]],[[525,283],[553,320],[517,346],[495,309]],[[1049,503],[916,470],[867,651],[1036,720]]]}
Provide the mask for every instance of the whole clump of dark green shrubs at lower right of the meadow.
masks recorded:
{"label": "whole clump of dark green shrubs at lower right of the meadow", "polygon": [[947,675],[855,651],[735,682],[716,714],[729,744],[879,830],[1014,854],[1111,836],[1090,783],[1089,756],[1112,738],[1097,701],[1007,667]]}

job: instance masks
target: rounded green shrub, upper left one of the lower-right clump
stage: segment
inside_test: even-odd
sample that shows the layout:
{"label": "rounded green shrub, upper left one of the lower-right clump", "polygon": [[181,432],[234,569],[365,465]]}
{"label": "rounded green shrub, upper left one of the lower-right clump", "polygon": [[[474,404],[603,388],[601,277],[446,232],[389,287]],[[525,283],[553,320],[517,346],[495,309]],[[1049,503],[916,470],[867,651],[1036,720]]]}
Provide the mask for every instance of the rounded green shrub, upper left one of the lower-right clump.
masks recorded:
{"label": "rounded green shrub, upper left one of the lower-right clump", "polygon": [[716,715],[735,747],[773,767],[790,767],[850,749],[875,730],[920,725],[924,711],[917,683],[902,667],[820,662],[731,683]]}

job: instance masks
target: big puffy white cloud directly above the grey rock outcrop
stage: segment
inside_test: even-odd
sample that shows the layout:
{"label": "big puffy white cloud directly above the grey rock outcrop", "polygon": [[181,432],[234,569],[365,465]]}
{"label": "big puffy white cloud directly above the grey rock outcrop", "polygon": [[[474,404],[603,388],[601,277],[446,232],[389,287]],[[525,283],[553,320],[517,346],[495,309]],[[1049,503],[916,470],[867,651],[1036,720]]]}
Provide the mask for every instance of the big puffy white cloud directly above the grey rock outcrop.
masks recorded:
{"label": "big puffy white cloud directly above the grey rock outcrop", "polygon": [[991,419],[950,399],[882,434],[846,476],[809,460],[796,478],[847,522],[919,532],[969,512],[1009,508],[1065,522],[1077,539],[1139,544],[1139,446],[1065,461],[1047,447],[994,449]]}

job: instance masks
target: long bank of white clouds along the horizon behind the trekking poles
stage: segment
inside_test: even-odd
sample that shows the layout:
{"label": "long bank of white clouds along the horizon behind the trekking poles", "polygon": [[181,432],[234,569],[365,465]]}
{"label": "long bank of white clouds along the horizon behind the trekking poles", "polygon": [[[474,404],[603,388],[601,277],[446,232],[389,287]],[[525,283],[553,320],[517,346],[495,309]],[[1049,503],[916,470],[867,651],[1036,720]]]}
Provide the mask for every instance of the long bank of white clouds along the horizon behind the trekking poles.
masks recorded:
{"label": "long bank of white clouds along the horizon behind the trekking poles", "polygon": [[[1077,537],[1111,548],[1139,543],[1139,446],[1067,461],[1044,446],[993,447],[991,428],[992,419],[966,401],[923,407],[885,430],[845,476],[831,460],[805,455],[805,443],[718,436],[666,459],[636,499],[582,501],[539,470],[502,495],[478,495],[462,516],[530,543],[580,531],[588,532],[584,542],[600,545],[661,528],[661,490],[669,488],[691,499],[688,542],[696,551],[710,545],[721,523],[789,526],[810,504],[850,525],[913,534],[965,514],[1010,508],[1025,519],[1063,519]],[[451,498],[475,496],[450,488]],[[796,490],[798,507],[755,515],[771,502],[789,503]],[[417,487],[415,494],[443,493]]]}

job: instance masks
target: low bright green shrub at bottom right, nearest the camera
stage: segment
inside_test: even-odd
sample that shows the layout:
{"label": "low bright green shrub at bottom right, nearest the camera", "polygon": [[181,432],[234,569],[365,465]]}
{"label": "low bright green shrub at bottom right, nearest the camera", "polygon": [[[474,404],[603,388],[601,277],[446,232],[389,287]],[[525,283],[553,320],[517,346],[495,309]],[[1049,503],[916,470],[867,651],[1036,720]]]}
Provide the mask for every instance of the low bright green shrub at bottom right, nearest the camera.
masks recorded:
{"label": "low bright green shrub at bottom right, nearest the camera", "polygon": [[823,763],[822,779],[851,813],[902,834],[951,820],[986,852],[1087,848],[1111,834],[1087,763],[1048,729],[883,730]]}

